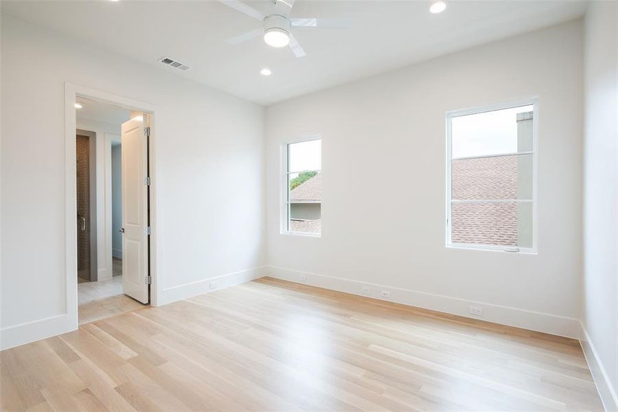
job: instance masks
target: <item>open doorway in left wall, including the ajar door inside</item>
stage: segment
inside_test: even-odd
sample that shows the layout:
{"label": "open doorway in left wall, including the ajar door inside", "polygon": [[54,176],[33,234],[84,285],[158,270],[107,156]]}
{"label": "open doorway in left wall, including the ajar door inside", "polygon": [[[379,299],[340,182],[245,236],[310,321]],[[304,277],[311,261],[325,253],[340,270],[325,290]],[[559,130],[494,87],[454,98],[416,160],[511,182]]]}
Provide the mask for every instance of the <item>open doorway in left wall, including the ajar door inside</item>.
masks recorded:
{"label": "open doorway in left wall, including the ajar door inside", "polygon": [[150,115],[80,96],[75,106],[82,324],[150,302]]}

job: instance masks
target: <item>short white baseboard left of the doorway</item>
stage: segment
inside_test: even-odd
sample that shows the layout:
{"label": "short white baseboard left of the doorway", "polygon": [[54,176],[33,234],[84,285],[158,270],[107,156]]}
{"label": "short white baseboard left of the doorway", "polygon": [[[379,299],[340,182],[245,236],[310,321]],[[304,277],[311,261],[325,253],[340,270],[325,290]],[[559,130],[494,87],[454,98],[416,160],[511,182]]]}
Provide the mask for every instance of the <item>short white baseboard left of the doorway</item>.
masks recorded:
{"label": "short white baseboard left of the doorway", "polygon": [[10,326],[0,330],[0,350],[40,341],[77,328],[77,319],[71,320],[68,314],[58,314],[38,321]]}

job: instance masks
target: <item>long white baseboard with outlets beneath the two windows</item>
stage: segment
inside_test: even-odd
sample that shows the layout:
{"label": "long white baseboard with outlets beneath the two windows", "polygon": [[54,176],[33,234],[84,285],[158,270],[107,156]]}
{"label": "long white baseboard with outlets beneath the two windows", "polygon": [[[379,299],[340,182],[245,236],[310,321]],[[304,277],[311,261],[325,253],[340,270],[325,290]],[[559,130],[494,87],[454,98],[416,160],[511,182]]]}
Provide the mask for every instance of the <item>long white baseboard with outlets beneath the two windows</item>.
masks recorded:
{"label": "long white baseboard with outlets beneath the two windows", "polygon": [[[483,321],[501,323],[503,325],[516,326],[517,328],[525,328],[528,330],[535,330],[537,332],[545,332],[559,336],[567,336],[574,339],[579,339],[580,337],[579,319],[563,317],[556,314],[510,308],[508,306],[470,301],[444,295],[435,295],[433,293],[419,292],[417,290],[396,288],[387,285],[357,282],[355,280],[344,279],[342,277],[294,271],[292,269],[279,268],[275,266],[267,266],[264,273],[267,276],[288,280],[290,282],[309,284],[331,290],[339,290],[340,292],[352,293],[354,295],[364,297],[373,297],[375,299],[382,299],[385,301],[393,301],[398,304],[437,310],[439,312],[457,314],[459,316],[470,317],[472,319],[481,319]],[[306,280],[301,281],[301,276]],[[363,294],[363,286],[369,287],[371,289],[371,294]],[[380,295],[381,290],[389,290],[391,292],[391,297],[389,299],[383,298]],[[470,305],[482,306],[483,316],[476,317],[471,315],[468,312]]]}

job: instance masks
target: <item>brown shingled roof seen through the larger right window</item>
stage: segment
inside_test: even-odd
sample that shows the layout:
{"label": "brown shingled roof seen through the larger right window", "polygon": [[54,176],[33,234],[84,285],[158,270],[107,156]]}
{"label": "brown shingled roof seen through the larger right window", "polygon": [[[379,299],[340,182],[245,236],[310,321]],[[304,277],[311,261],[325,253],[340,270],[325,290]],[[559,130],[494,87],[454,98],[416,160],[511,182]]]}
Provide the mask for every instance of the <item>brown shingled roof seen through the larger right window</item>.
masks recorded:
{"label": "brown shingled roof seen through the larger right window", "polygon": [[[517,156],[453,161],[452,198],[517,198]],[[517,245],[516,203],[453,203],[455,243]]]}

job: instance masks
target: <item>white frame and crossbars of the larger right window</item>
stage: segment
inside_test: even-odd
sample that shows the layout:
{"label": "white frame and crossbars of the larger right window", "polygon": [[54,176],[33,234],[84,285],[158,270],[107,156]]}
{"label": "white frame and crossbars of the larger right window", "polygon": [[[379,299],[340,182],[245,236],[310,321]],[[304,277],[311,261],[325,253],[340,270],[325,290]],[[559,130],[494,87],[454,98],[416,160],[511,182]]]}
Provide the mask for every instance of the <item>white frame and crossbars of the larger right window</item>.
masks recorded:
{"label": "white frame and crossbars of the larger right window", "polygon": [[[532,198],[527,199],[488,199],[480,201],[479,203],[504,203],[505,201],[531,202],[532,203],[532,247],[505,247],[496,244],[467,244],[467,243],[453,243],[451,239],[451,205],[453,204],[453,198],[451,191],[451,165],[453,161],[452,157],[452,120],[453,117],[460,117],[465,115],[474,115],[477,113],[486,113],[490,111],[503,110],[505,108],[514,108],[518,106],[532,106],[532,150],[529,152],[515,152],[515,153],[501,153],[499,155],[483,155],[472,157],[458,157],[460,159],[479,159],[481,157],[497,157],[497,156],[510,156],[510,155],[532,155]],[[484,251],[504,251],[504,252],[517,252],[517,253],[538,253],[537,245],[537,207],[538,207],[538,97],[527,98],[523,100],[516,100],[512,102],[506,102],[501,104],[492,104],[490,106],[483,106],[477,108],[469,108],[466,110],[448,111],[446,112],[446,247],[455,249],[478,249]],[[472,203],[474,201],[467,201],[466,203]]]}

